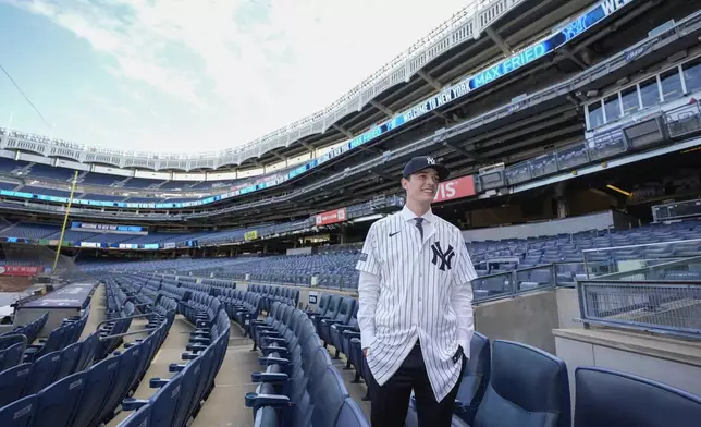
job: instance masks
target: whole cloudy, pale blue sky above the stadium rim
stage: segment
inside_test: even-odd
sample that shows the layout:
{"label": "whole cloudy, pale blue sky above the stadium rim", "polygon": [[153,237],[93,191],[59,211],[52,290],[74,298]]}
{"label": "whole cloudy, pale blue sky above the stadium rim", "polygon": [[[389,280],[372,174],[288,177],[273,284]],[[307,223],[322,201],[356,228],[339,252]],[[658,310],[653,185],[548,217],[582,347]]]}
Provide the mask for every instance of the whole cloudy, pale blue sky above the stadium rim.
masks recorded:
{"label": "whole cloudy, pale blue sky above the stadium rim", "polygon": [[469,0],[0,0],[0,126],[158,152],[324,109]]}

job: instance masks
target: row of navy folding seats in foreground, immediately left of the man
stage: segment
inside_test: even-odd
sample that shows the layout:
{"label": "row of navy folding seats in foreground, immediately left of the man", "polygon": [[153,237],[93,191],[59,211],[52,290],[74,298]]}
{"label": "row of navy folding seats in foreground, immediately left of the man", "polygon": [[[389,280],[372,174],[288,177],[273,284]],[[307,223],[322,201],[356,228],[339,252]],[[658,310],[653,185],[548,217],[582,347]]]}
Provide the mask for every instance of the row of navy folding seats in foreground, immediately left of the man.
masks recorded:
{"label": "row of navy folding seats in foreground, immediately left of the man", "polygon": [[256,426],[369,426],[303,310],[275,302],[271,315],[250,329],[266,366],[251,374],[260,386],[245,400]]}

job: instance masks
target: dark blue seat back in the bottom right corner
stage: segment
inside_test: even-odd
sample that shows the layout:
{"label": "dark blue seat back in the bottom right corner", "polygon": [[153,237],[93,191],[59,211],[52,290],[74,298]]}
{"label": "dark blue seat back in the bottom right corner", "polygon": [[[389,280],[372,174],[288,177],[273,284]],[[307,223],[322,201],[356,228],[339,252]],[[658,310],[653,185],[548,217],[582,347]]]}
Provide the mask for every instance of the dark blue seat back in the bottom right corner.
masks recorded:
{"label": "dark blue seat back in the bottom right corner", "polygon": [[575,386],[574,427],[687,427],[701,420],[701,398],[638,376],[578,367]]}

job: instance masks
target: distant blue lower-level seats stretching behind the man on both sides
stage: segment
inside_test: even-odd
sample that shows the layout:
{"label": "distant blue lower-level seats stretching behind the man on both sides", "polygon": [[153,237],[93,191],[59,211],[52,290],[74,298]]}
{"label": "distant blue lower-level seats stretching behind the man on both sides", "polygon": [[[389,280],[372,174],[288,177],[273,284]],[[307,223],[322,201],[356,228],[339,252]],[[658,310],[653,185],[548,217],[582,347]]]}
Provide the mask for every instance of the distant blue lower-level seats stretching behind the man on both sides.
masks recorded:
{"label": "distant blue lower-level seats stretching behind the man on both sides", "polygon": [[[680,241],[689,241],[684,243]],[[650,243],[675,242],[655,246],[625,247]],[[615,264],[635,259],[673,259],[701,255],[701,220],[686,220],[672,224],[656,224],[627,231],[589,231],[548,237],[512,239],[467,244],[479,277],[503,274],[514,270],[517,278],[490,278],[489,285],[476,289],[502,290],[511,288],[515,280],[519,286],[552,283],[573,283],[577,276],[585,274],[583,249],[612,248],[600,253],[588,253],[587,261],[592,269],[615,271]],[[181,274],[253,282],[317,285],[332,289],[354,289],[358,272],[355,264],[359,257],[357,248],[324,252],[313,255],[269,256],[261,258],[214,258],[174,259],[161,261],[136,261],[113,265],[90,265],[88,270],[106,268],[137,269],[147,271],[177,271]],[[261,265],[265,264],[265,268]],[[539,266],[556,264],[551,271]],[[195,279],[193,279],[195,280]],[[212,279],[210,279],[212,280]],[[508,280],[509,282],[505,282]]]}

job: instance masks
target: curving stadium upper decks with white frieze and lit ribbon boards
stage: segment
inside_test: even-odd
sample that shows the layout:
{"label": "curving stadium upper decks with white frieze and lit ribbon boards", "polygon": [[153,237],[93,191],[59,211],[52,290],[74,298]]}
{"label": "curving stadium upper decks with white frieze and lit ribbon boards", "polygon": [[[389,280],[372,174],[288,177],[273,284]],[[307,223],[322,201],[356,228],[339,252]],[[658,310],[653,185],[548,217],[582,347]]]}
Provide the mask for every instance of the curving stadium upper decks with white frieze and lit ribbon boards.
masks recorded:
{"label": "curving stadium upper decks with white frieze and lit ribbon boards", "polygon": [[[235,150],[123,152],[0,130],[0,209],[12,223],[58,219],[77,171],[71,246],[337,234],[401,206],[401,166],[430,154],[454,171],[436,206],[489,210],[537,191],[563,218],[570,182],[698,144],[699,32],[692,2],[492,2],[458,13],[322,112]],[[54,229],[26,222],[2,234],[57,243]]]}

